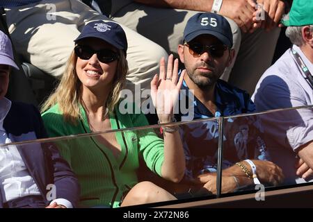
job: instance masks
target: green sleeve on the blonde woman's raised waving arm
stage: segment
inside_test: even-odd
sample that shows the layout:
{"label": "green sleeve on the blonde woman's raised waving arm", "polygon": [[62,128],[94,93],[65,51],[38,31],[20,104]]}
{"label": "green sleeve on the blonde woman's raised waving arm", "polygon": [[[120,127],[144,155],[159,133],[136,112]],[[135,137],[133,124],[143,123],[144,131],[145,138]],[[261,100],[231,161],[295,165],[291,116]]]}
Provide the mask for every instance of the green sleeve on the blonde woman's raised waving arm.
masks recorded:
{"label": "green sleeve on the blonde woman's raised waving arm", "polygon": [[[149,123],[143,113],[133,114],[132,121],[134,126],[148,126]],[[154,133],[154,129],[138,130],[139,151],[147,167],[154,173],[161,176],[161,167],[164,160],[164,142],[163,139]]]}

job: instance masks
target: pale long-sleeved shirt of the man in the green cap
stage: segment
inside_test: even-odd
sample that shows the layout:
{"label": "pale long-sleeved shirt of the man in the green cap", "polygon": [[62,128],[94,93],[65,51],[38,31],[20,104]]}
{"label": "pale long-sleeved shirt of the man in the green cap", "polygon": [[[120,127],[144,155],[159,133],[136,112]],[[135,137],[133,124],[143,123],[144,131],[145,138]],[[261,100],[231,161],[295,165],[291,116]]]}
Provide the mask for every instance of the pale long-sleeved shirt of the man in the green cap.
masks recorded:
{"label": "pale long-sleeved shirt of the man in the green cap", "polygon": [[[313,74],[313,64],[296,45],[307,69]],[[252,95],[257,112],[313,104],[313,89],[303,77],[291,49],[288,49],[259,79]],[[264,123],[266,145],[273,162],[282,167],[285,177],[305,182],[296,177],[297,148],[313,140],[313,109],[302,108],[259,115]]]}

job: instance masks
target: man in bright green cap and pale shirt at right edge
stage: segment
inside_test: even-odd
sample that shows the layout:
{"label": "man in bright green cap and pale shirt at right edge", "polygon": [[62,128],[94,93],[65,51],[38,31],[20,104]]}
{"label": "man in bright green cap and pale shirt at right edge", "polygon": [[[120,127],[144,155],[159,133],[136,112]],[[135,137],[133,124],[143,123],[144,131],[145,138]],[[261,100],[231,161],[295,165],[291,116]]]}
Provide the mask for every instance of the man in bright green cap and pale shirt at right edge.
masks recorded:
{"label": "man in bright green cap and pale shirt at right edge", "polygon": [[[257,111],[313,105],[312,11],[313,1],[297,0],[282,20],[293,46],[257,83],[252,95]],[[313,172],[312,108],[274,112],[261,118],[271,129],[266,130],[268,151],[289,182],[309,180]]]}

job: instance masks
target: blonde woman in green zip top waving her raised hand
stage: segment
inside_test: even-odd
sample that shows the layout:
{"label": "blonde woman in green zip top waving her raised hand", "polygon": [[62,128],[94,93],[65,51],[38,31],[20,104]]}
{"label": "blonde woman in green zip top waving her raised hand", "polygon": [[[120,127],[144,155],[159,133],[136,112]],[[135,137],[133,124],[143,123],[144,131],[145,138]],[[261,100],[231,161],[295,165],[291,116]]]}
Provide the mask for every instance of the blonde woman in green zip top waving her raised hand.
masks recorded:
{"label": "blonde woman in green zip top waving her raised hand", "polygon": [[[74,42],[61,83],[42,106],[49,136],[147,125],[143,114],[121,114],[118,109],[118,96],[128,70],[127,40],[122,28],[113,22],[90,22]],[[182,85],[184,73],[178,80],[178,60],[173,62],[170,56],[168,69],[165,67],[162,59],[160,75],[151,82],[154,101],[164,96],[158,93],[161,89],[178,95]],[[174,121],[172,114],[155,105],[160,123]],[[182,180],[185,159],[178,130],[169,127],[163,132],[164,140],[152,131],[129,131],[61,143],[61,154],[81,185],[81,206],[118,207],[174,200],[168,191],[152,182],[138,183],[136,177],[138,160],[143,157],[147,167],[159,176],[173,182]]]}

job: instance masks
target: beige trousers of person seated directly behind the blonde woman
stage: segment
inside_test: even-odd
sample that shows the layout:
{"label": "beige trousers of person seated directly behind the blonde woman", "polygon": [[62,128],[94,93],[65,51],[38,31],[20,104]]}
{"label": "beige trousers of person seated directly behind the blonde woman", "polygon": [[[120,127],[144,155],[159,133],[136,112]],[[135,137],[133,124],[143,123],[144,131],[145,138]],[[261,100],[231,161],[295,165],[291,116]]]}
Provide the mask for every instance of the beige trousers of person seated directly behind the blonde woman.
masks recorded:
{"label": "beige trousers of person seated directly behind the blonde woman", "polygon": [[[24,60],[61,78],[74,49],[74,39],[83,26],[95,20],[108,20],[79,0],[42,0],[26,6],[6,8],[8,30],[17,53]],[[159,72],[159,60],[168,57],[158,44],[121,25],[127,42],[129,74],[127,88],[134,85],[150,89],[150,82]]]}

